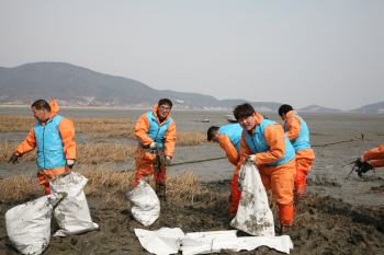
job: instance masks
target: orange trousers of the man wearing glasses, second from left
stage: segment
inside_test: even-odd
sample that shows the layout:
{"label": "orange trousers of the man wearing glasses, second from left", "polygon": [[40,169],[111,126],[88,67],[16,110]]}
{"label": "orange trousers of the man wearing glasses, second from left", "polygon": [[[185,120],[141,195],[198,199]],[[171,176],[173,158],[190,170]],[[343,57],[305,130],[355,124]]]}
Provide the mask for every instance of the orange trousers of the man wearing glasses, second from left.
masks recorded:
{"label": "orange trousers of the man wearing glasses, second from left", "polygon": [[155,172],[155,160],[156,154],[149,153],[146,150],[142,149],[140,147],[137,148],[135,161],[136,161],[136,178],[135,178],[135,187],[138,184],[138,179],[143,178],[145,176],[148,176],[150,174],[154,174],[155,182],[158,185],[159,188],[162,186],[166,186],[166,179],[167,179],[167,166],[161,165],[161,172],[159,176],[157,176]]}

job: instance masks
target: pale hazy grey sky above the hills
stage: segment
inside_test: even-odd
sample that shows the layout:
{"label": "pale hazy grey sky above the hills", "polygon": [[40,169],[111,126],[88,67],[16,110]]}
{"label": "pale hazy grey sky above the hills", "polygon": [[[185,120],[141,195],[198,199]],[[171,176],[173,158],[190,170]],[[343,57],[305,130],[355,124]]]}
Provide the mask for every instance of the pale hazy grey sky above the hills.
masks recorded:
{"label": "pale hazy grey sky above the hills", "polygon": [[1,0],[0,33],[0,67],[68,62],[294,108],[384,101],[382,0]]}

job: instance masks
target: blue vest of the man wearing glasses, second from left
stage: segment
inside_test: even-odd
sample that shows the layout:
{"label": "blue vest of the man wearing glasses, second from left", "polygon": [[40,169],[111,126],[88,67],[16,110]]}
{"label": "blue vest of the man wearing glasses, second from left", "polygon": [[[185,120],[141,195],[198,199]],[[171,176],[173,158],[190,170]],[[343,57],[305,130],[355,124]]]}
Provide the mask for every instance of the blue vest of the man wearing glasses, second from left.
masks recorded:
{"label": "blue vest of the man wearing glasses, second from left", "polygon": [[[147,113],[147,119],[149,123],[149,129],[147,132],[147,136],[150,137],[151,139],[154,139],[154,141],[156,142],[158,148],[161,148],[161,150],[163,151],[165,148],[165,135],[167,132],[168,126],[171,124],[172,118],[169,117],[161,126],[159,125],[159,123],[157,121],[156,116],[154,115],[153,112],[148,112]],[[137,143],[138,146],[140,146],[142,148],[145,147],[142,142]],[[155,150],[148,150],[148,152],[150,153],[156,153]]]}

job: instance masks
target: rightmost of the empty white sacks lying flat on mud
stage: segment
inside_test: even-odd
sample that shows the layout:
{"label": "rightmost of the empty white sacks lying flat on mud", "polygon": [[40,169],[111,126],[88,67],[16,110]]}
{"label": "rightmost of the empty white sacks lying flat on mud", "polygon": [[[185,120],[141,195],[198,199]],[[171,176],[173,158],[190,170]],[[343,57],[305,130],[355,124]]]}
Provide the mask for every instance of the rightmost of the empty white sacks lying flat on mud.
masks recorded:
{"label": "rightmost of the empty white sacks lying flat on mud", "polygon": [[259,246],[268,246],[279,252],[290,254],[290,250],[293,248],[290,235],[238,237],[238,252],[241,250],[252,251]]}

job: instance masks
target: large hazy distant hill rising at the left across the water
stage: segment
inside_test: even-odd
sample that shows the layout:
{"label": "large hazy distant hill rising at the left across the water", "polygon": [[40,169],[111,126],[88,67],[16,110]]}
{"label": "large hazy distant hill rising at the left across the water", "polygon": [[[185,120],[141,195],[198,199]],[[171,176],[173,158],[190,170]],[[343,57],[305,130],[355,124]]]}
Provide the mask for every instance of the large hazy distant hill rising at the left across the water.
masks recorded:
{"label": "large hazy distant hill rising at the left across the water", "polygon": [[[153,106],[168,97],[180,108],[231,108],[238,102],[219,101],[200,93],[155,90],[142,82],[99,73],[65,62],[25,63],[0,68],[0,103],[31,103],[36,98],[57,100],[60,105]],[[250,102],[251,103],[251,102]],[[279,103],[252,102],[275,111]]]}

